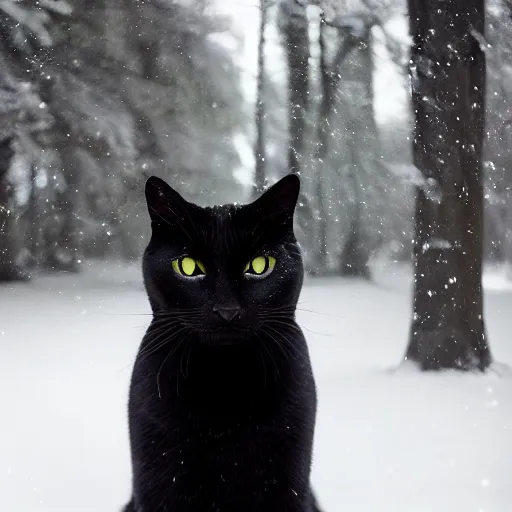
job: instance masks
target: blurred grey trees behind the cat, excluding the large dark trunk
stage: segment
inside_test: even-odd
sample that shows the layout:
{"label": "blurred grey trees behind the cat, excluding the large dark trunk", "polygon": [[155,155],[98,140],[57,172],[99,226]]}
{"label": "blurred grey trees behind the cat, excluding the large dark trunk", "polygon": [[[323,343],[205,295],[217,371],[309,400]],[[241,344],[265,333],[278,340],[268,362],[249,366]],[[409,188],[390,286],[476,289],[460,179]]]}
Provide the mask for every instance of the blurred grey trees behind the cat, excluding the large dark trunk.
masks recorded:
{"label": "blurred grey trees behind the cat, excluding the large dark trunk", "polygon": [[[138,258],[152,174],[212,204],[249,200],[252,185],[298,170],[311,273],[409,261],[420,178],[405,1],[297,5],[2,0],[0,280]],[[487,2],[485,259],[503,263],[512,261],[507,9]],[[290,34],[302,45],[293,55]]]}

